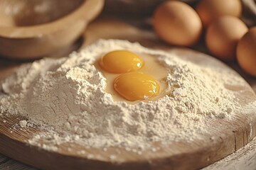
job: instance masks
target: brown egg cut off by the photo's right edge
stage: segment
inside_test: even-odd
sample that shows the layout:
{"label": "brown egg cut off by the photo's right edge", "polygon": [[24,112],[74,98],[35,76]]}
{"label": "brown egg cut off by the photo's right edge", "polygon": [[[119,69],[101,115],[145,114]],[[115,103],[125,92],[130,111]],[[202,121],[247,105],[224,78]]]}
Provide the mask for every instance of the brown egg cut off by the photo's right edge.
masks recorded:
{"label": "brown egg cut off by the photo's right edge", "polygon": [[240,67],[256,77],[256,26],[250,28],[238,42],[237,58]]}

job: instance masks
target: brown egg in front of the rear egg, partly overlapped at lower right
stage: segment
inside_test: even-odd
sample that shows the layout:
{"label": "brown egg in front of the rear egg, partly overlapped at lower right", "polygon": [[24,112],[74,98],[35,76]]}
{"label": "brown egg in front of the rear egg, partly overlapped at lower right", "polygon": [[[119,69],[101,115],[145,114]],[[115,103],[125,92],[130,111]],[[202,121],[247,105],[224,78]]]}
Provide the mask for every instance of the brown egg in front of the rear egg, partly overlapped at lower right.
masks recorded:
{"label": "brown egg in front of the rear egg, partly overlapped at lower right", "polygon": [[206,30],[206,46],[213,55],[221,60],[235,60],[238,40],[245,35],[248,28],[235,16],[222,16],[211,23]]}

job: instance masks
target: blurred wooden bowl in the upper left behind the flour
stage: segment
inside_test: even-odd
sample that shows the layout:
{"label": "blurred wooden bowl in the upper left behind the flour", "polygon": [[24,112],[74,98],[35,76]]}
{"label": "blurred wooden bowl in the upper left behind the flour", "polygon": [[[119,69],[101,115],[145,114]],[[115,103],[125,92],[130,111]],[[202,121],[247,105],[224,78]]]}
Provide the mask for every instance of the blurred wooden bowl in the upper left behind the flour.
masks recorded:
{"label": "blurred wooden bowl in the upper left behind the flour", "polygon": [[0,0],[0,55],[30,60],[68,47],[104,0]]}

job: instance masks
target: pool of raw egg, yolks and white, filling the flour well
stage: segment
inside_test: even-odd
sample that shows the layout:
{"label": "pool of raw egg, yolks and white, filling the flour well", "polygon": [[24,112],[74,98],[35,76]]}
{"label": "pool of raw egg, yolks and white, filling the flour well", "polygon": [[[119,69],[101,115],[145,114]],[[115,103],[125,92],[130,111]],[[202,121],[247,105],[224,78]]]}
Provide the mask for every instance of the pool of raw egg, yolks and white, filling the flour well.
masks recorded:
{"label": "pool of raw egg, yolks and white, filling the flour well", "polygon": [[[102,67],[102,64],[97,62],[95,67],[106,78],[106,92],[112,94],[114,101],[126,101],[127,103],[137,103],[141,100],[154,101],[168,94],[166,83],[168,69],[159,63],[157,56],[114,50],[103,55],[99,63],[102,63],[102,58],[108,56],[108,54],[114,54],[112,60],[105,61],[105,65],[109,64],[111,66],[112,72],[105,69],[107,66]],[[110,55],[110,57],[112,56]],[[114,65],[111,65],[113,63]],[[119,66],[119,64],[122,65]],[[137,67],[137,64],[139,64],[139,67]],[[120,72],[120,74],[114,71],[115,69],[119,70],[119,67],[124,67],[123,69],[126,71]]]}

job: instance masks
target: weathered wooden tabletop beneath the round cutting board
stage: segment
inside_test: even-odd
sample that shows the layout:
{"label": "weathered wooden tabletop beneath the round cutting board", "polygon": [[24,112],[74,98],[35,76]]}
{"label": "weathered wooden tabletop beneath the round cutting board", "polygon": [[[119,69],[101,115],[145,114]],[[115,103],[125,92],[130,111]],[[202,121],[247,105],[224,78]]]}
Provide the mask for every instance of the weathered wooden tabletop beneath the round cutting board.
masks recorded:
{"label": "weathered wooden tabletop beneath the round cutting board", "polygon": [[[134,23],[137,25],[137,23]],[[144,25],[145,29],[148,29],[146,25]],[[204,47],[201,47],[201,45],[198,45],[196,47],[193,47],[196,50],[200,50],[202,52],[206,52]],[[71,50],[74,50],[75,48],[72,48]],[[60,56],[63,54],[60,54]],[[0,63],[6,62],[10,65],[16,65],[19,63],[13,63],[6,60],[1,60]],[[1,69],[3,69],[4,64],[0,64],[0,72]],[[2,66],[2,67],[1,67]],[[252,89],[256,92],[256,79],[252,77],[248,77],[246,74],[244,74],[238,67],[237,64],[230,64],[231,67],[236,69],[242,77],[244,77],[247,82],[252,86]],[[256,111],[255,111],[256,112]],[[8,157],[5,157],[4,155],[0,154],[0,169],[35,169],[31,166],[28,166],[26,164],[22,164],[20,162],[16,162],[14,159],[10,159]],[[224,159],[221,159],[218,162],[215,162],[214,164],[211,164],[210,166],[207,166],[204,168],[204,170],[209,169],[245,169],[245,170],[256,170],[256,137],[254,140],[252,140],[249,144],[247,144],[245,147],[242,147],[237,152],[234,152],[233,154],[230,154],[228,157],[225,157]]]}

